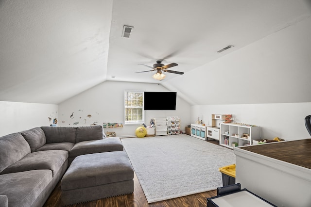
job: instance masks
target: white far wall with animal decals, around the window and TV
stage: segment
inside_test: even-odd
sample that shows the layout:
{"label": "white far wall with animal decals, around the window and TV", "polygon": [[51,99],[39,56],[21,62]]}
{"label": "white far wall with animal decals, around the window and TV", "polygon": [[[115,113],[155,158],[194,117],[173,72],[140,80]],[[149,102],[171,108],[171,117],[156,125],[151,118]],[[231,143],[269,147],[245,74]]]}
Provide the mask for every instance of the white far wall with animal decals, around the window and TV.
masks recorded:
{"label": "white far wall with animal decals, around the window and TV", "polygon": [[[60,103],[58,126],[103,125],[104,122],[124,123],[124,90],[168,91],[159,84],[105,81]],[[179,97],[178,93],[176,102],[176,111],[145,111],[145,124],[150,125],[152,118],[178,116],[181,119],[181,129],[184,131],[185,126],[190,124],[191,106]],[[135,136],[135,129],[138,126],[123,125],[122,128],[105,128],[104,131],[115,131],[118,137],[131,137]]]}

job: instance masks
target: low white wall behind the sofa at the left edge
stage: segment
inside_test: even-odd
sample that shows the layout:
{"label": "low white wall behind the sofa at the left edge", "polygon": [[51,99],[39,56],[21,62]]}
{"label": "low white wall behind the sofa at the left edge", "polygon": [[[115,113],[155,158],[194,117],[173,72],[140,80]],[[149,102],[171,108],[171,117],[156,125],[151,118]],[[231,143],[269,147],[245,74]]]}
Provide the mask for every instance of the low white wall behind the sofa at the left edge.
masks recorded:
{"label": "low white wall behind the sofa at the left edge", "polygon": [[58,115],[55,104],[8,101],[0,101],[0,114],[0,136],[34,127],[50,126]]}

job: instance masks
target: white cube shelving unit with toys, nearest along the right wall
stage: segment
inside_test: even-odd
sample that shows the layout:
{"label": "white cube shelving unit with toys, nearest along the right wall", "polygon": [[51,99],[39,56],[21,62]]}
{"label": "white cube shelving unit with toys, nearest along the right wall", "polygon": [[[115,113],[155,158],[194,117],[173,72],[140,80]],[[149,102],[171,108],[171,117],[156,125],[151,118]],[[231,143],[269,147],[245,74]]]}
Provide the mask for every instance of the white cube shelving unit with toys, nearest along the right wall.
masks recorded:
{"label": "white cube shelving unit with toys, nearest along the right wall", "polygon": [[252,145],[253,140],[260,139],[260,127],[243,124],[220,124],[220,145],[234,146]]}

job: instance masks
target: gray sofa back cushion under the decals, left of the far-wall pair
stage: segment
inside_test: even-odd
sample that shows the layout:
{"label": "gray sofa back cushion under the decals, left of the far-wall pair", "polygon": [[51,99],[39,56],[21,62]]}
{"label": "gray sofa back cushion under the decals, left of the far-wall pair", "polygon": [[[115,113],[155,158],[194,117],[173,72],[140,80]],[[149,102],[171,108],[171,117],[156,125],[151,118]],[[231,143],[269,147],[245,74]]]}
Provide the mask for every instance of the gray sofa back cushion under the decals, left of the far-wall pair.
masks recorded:
{"label": "gray sofa back cushion under the decals, left of the far-wall pair", "polygon": [[41,127],[46,143],[76,143],[76,127]]}

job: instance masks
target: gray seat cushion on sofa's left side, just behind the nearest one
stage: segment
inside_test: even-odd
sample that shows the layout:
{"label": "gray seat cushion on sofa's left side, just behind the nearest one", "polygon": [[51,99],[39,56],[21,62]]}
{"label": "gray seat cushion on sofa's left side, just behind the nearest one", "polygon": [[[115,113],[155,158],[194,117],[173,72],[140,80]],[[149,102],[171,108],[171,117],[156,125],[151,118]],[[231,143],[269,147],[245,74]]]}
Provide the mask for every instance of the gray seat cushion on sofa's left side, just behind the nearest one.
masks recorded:
{"label": "gray seat cushion on sofa's left side, just behind the nearest one", "polygon": [[17,173],[28,170],[52,170],[53,176],[68,159],[65,150],[47,150],[32,152],[8,166],[0,174]]}

